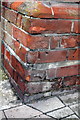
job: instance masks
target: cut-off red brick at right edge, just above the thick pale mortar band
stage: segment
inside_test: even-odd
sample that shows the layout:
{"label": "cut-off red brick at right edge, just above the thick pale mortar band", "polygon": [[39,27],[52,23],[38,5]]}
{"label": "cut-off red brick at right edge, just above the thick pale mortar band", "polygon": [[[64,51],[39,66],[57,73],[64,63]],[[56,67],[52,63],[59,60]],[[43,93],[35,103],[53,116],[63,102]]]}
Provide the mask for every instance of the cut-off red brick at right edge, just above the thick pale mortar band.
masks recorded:
{"label": "cut-off red brick at right edge, just above the thick pale mortar band", "polygon": [[80,53],[80,49],[73,49],[73,50],[69,50],[68,52],[68,60],[79,60],[79,53]]}

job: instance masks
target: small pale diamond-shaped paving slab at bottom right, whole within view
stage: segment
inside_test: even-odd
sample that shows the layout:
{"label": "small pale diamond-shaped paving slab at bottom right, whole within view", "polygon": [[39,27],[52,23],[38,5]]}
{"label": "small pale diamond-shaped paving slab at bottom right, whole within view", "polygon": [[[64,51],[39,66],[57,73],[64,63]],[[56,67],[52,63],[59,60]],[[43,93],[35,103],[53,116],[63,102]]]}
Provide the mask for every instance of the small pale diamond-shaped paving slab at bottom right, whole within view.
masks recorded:
{"label": "small pale diamond-shaped paving slab at bottom right, whole within view", "polygon": [[47,115],[52,116],[54,118],[63,118],[67,117],[68,115],[73,114],[73,111],[69,107],[64,107],[62,109],[55,110],[53,112],[47,113]]}

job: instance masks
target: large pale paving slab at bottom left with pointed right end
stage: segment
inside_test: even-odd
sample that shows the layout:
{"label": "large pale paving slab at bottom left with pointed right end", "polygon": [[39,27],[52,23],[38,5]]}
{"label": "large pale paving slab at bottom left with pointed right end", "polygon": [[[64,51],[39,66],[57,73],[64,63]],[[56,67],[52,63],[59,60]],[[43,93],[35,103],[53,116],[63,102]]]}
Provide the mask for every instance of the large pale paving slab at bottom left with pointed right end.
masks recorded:
{"label": "large pale paving slab at bottom left with pointed right end", "polygon": [[7,118],[32,118],[42,114],[41,112],[26,105],[15,107],[4,111]]}

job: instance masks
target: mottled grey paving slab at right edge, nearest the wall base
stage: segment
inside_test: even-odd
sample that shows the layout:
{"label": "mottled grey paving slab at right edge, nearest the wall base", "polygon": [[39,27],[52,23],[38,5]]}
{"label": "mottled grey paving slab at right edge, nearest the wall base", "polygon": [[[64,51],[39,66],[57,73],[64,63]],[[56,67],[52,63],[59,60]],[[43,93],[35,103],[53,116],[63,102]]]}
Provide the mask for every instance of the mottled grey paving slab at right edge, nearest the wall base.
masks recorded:
{"label": "mottled grey paving slab at right edge, nearest the wall base", "polygon": [[59,97],[66,105],[72,105],[79,102],[78,94],[79,94],[78,92],[74,92]]}

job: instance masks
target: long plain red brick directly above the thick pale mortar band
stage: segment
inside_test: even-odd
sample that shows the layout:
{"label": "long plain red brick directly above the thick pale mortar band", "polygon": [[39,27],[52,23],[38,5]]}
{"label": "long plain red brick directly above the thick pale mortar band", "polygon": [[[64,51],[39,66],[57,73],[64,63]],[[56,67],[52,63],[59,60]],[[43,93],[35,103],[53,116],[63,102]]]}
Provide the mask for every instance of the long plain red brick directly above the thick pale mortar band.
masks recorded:
{"label": "long plain red brick directly above the thick pale mortar band", "polygon": [[40,52],[39,58],[37,60],[37,63],[53,63],[53,62],[60,62],[66,60],[66,50],[63,51],[46,51],[46,52]]}

